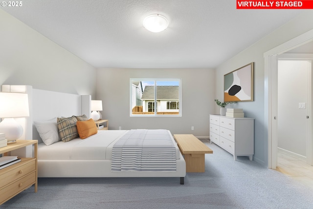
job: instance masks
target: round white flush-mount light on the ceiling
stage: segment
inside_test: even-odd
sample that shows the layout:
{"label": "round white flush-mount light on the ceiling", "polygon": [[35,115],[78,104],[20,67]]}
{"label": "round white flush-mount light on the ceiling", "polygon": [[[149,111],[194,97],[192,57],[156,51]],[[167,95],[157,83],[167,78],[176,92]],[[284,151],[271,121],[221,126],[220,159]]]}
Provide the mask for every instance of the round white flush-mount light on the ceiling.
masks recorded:
{"label": "round white flush-mount light on the ceiling", "polygon": [[143,20],[143,26],[154,33],[165,30],[168,26],[167,19],[159,14],[149,15]]}

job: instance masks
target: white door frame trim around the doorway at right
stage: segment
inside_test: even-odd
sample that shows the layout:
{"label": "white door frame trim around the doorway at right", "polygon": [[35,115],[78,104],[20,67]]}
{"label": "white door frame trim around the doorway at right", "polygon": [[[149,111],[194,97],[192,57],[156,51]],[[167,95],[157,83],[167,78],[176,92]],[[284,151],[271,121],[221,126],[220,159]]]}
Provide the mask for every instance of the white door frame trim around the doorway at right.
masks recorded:
{"label": "white door frame trim around the doorway at right", "polygon": [[[312,41],[313,29],[264,53],[264,121],[267,132],[265,136],[268,135],[268,168],[276,169],[277,166],[277,55]],[[311,154],[307,155],[307,161],[312,164],[313,143],[310,141],[307,146]]]}

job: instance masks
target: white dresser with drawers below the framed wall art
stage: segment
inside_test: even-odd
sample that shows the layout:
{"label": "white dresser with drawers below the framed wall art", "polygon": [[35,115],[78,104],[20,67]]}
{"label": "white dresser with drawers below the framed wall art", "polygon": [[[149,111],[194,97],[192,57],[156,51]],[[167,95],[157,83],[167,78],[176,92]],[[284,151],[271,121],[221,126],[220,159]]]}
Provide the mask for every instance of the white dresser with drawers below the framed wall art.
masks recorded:
{"label": "white dresser with drawers below the framed wall art", "polygon": [[248,156],[252,161],[254,119],[210,115],[210,140],[231,153],[234,160],[237,156]]}

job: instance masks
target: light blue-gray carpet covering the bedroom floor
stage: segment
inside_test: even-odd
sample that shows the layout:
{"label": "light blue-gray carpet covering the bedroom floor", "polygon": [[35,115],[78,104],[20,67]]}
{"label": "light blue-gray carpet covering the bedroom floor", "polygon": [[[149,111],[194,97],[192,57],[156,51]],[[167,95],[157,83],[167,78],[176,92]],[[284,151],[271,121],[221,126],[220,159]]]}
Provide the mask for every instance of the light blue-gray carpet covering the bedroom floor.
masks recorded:
{"label": "light blue-gray carpet covering the bedroom floor", "polygon": [[313,189],[201,139],[205,173],[179,178],[39,178],[8,209],[312,209]]}

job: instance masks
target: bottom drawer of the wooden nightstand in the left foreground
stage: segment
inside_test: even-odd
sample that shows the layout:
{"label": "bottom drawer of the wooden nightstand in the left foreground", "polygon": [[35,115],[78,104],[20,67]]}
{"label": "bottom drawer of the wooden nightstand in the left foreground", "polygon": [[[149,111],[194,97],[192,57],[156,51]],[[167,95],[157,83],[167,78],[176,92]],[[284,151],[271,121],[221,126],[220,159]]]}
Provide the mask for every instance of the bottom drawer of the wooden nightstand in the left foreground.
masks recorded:
{"label": "bottom drawer of the wooden nightstand in the left foreground", "polygon": [[3,187],[0,190],[0,203],[6,201],[9,198],[12,198],[22,190],[26,189],[28,186],[35,184],[36,182],[36,172],[33,171],[32,173],[22,177],[19,180]]}

